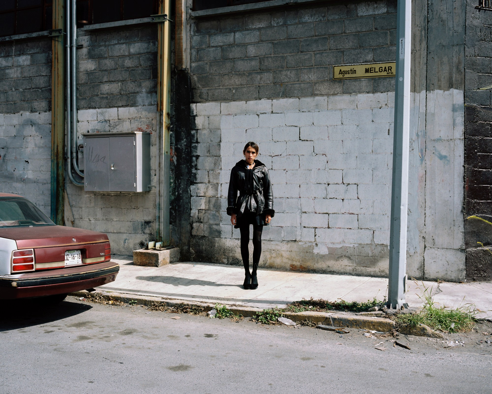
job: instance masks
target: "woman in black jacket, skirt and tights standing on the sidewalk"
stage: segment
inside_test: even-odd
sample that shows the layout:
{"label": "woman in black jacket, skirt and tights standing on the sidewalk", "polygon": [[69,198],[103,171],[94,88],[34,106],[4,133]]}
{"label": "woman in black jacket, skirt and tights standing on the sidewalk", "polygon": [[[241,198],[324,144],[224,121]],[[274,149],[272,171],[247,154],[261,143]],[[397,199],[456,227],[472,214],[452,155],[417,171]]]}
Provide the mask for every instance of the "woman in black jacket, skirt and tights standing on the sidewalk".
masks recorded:
{"label": "woman in black jacket, skirt and tights standing on the sidewalk", "polygon": [[[256,160],[260,153],[258,145],[248,142],[240,160],[231,170],[227,214],[231,223],[241,232],[241,257],[245,266],[245,289],[256,289],[256,270],[261,255],[261,233],[275,215],[272,185],[265,164]],[[238,197],[239,192],[239,197]],[[249,272],[249,225],[253,225],[253,270]]]}

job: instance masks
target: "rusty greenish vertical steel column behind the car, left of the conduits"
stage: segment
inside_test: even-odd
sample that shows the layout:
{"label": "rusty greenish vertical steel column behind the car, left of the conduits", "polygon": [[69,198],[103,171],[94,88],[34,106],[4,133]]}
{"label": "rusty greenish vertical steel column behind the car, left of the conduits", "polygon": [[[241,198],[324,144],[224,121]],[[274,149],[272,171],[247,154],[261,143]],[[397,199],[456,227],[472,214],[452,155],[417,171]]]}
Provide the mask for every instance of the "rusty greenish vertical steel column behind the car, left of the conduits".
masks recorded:
{"label": "rusty greenish vertical steel column behind the car, left of the conduits", "polygon": [[[53,29],[64,31],[63,0],[53,1]],[[51,220],[63,225],[63,191],[65,190],[65,83],[64,35],[52,38],[51,64]]]}

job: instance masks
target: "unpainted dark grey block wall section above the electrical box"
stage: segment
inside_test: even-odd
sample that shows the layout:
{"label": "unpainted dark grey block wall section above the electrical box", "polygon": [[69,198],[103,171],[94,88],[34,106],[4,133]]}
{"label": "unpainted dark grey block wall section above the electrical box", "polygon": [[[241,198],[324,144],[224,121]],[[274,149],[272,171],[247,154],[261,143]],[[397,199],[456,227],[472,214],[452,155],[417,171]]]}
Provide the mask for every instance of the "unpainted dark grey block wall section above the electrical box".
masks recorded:
{"label": "unpainted dark grey block wall section above the electrical box", "polygon": [[78,108],[138,107],[157,103],[155,26],[79,29]]}

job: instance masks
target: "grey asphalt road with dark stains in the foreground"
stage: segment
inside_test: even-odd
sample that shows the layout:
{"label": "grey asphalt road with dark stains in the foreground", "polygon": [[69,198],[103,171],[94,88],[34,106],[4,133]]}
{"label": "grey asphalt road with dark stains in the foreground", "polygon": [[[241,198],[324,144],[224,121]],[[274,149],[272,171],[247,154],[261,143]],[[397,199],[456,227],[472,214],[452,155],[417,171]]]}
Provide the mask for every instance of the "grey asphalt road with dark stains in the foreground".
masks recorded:
{"label": "grey asphalt road with dark stains in the foreground", "polygon": [[[407,350],[356,330],[340,337],[75,297],[54,307],[10,305],[0,320],[4,394],[492,391],[492,345],[477,344],[481,332],[452,348],[400,337]],[[379,342],[386,350],[374,348]]]}

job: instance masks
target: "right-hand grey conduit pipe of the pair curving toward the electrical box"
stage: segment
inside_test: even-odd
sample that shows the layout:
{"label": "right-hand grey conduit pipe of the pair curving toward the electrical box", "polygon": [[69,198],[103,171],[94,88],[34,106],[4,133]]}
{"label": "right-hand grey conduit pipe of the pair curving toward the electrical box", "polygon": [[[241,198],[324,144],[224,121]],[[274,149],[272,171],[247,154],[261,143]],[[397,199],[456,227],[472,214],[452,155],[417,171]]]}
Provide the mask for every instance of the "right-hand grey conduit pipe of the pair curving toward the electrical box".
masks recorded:
{"label": "right-hand grey conduit pipe of the pair curving toward the electrical box", "polygon": [[[84,177],[84,172],[79,169],[78,155],[77,155],[77,6],[76,0],[71,0],[71,34],[70,34],[70,56],[71,69],[70,69],[70,80],[72,82],[72,165],[75,172],[79,174],[82,178]],[[67,18],[68,19],[68,18]]]}

